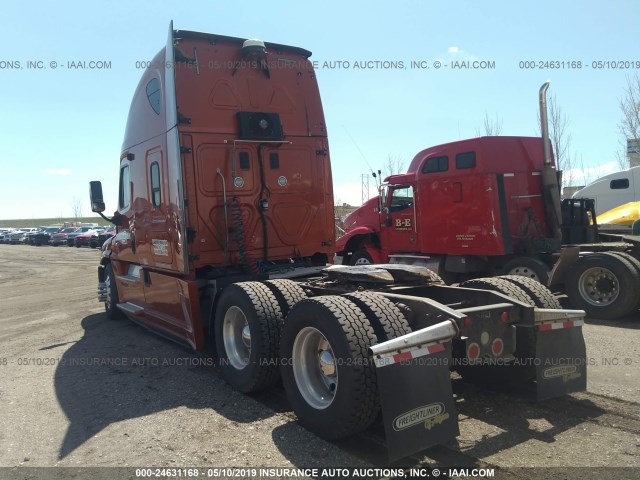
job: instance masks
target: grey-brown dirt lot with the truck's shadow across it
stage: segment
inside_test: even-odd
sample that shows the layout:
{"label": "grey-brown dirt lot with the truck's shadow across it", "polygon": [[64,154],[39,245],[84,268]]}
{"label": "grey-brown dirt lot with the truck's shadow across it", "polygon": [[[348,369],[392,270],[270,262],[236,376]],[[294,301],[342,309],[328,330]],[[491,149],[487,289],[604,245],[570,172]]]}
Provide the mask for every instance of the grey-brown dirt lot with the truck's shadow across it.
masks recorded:
{"label": "grey-brown dirt lot with the truck's shadow across it", "polygon": [[296,423],[281,389],[238,394],[207,355],[107,320],[98,257],[0,245],[0,467],[23,467],[0,477],[49,466],[441,465],[493,468],[496,478],[640,478],[640,315],[587,321],[588,392],[534,403],[455,380],[457,441],[388,465],[376,429],[322,441]]}

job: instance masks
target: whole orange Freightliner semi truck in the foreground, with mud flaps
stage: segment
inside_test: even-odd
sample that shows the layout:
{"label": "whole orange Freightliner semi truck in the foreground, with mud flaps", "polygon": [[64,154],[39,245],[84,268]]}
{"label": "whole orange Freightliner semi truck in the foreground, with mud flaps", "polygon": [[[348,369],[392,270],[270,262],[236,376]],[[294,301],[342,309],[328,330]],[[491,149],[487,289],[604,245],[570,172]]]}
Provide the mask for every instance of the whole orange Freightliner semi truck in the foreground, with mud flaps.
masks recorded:
{"label": "whole orange Freightliner semi truck in the foreground, with mud flaps", "polygon": [[[584,312],[537,284],[327,265],[331,167],[310,55],[170,27],[127,122],[117,233],[98,269],[107,316],[194,349],[215,342],[229,384],[281,380],[325,438],[382,412],[392,459],[458,434],[452,369],[529,383],[540,399],[584,390]],[[104,216],[100,182],[90,190]]]}

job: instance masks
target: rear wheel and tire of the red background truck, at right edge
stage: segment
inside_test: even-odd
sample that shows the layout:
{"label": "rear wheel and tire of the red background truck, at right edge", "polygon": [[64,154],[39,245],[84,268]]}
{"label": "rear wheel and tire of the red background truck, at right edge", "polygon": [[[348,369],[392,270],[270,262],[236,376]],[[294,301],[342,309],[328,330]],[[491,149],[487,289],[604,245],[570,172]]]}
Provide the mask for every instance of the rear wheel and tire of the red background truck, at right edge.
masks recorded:
{"label": "rear wheel and tire of the red background truck, at right edge", "polygon": [[629,260],[612,252],[579,258],[567,272],[567,296],[588,316],[623,317],[638,306],[640,274]]}

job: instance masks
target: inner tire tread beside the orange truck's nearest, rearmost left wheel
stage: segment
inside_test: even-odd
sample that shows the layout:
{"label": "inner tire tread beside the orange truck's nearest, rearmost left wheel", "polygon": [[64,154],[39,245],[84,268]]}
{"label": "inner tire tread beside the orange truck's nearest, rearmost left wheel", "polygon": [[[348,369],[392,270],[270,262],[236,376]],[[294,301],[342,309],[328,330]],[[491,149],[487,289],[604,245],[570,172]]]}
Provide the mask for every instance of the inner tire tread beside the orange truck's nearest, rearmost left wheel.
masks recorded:
{"label": "inner tire tread beside the orange truck's nearest, rearmost left wheel", "polygon": [[411,333],[409,322],[390,300],[372,292],[355,292],[344,295],[366,315],[373,327],[377,343]]}

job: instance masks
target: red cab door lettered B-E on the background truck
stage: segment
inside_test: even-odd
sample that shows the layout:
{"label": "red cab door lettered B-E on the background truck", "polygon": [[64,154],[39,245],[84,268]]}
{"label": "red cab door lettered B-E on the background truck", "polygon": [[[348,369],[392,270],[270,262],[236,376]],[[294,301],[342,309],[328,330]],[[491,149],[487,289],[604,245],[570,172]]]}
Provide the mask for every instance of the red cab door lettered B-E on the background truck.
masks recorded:
{"label": "red cab door lettered B-E on the background truck", "polygon": [[388,248],[389,253],[418,251],[415,208],[413,186],[389,187],[380,226],[381,244]]}

